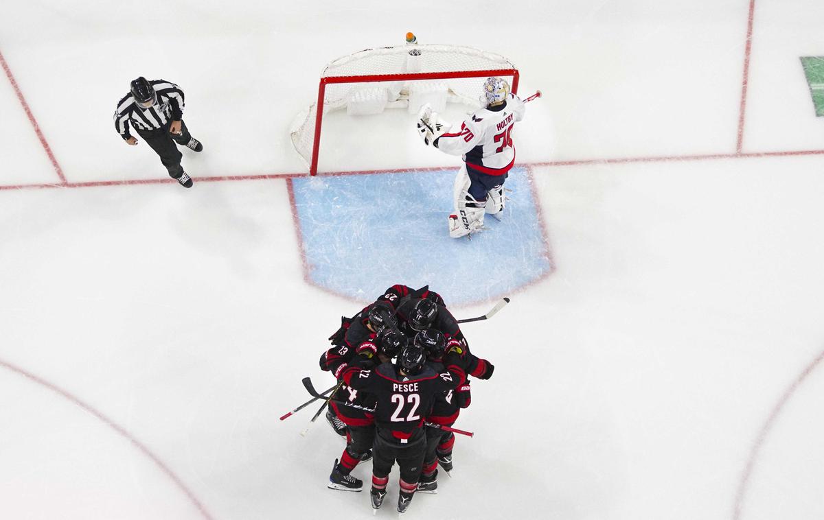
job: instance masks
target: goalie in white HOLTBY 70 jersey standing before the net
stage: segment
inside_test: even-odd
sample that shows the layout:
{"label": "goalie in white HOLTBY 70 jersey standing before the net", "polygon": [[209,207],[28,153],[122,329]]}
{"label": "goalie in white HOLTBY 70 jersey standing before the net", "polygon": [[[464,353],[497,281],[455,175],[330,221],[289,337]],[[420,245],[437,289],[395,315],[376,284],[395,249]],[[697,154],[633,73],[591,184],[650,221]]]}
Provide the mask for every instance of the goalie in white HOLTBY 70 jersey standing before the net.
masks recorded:
{"label": "goalie in white HOLTBY 70 jersey standing before the net", "polygon": [[[540,95],[540,94],[539,94]],[[460,128],[444,123],[428,104],[420,109],[418,132],[424,144],[453,156],[462,156],[452,196],[455,212],[449,216],[449,236],[460,238],[484,229],[484,217],[503,216],[503,182],[515,164],[513,126],[525,112],[523,101],[509,92],[500,77],[489,77],[480,96],[485,108],[466,118]]]}

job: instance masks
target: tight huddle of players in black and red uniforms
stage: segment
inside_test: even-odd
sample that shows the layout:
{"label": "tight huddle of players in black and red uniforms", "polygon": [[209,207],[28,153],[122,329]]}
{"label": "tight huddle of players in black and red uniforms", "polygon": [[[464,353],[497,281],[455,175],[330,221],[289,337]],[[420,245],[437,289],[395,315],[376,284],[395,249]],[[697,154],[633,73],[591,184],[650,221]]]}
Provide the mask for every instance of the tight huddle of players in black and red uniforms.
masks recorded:
{"label": "tight huddle of players in black and red uniforms", "polygon": [[[489,379],[493,364],[471,353],[440,295],[396,285],[342,325],[321,355],[339,384],[326,419],[346,447],[329,477],[333,490],[360,491],[351,472],[372,459],[372,508],[400,468],[398,511],[414,493],[436,493],[438,465],[452,471],[455,436],[447,430],[470,405],[469,377]],[[447,429],[444,429],[447,428]]]}

